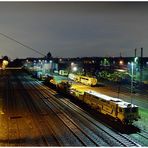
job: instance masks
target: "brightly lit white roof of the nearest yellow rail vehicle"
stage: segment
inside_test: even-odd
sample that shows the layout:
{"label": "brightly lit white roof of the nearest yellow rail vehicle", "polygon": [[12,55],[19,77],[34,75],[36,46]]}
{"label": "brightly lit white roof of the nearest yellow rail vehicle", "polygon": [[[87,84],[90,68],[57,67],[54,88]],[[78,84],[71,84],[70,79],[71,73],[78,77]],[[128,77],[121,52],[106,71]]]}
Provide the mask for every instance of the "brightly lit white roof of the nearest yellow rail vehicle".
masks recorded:
{"label": "brightly lit white roof of the nearest yellow rail vehicle", "polygon": [[128,102],[125,102],[125,101],[123,101],[123,100],[121,100],[119,98],[110,97],[110,96],[107,96],[107,95],[98,93],[96,91],[88,90],[88,91],[85,91],[85,92],[88,93],[88,94],[91,94],[93,96],[96,96],[98,98],[104,99],[106,101],[115,102],[115,104],[118,104],[122,108],[126,108],[126,107],[137,107],[136,105],[131,104],[131,103],[128,103]]}

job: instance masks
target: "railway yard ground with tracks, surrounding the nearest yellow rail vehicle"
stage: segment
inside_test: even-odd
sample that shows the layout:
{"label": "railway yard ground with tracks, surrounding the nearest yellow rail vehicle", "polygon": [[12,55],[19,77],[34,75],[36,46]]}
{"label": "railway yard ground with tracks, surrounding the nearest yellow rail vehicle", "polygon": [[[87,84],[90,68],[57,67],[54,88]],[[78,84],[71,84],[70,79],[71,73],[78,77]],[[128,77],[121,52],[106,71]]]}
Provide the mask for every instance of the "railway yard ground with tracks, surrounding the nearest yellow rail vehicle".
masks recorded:
{"label": "railway yard ground with tracks, surrounding the nearest yellow rail vehicle", "polygon": [[[91,87],[130,102],[129,93],[116,88]],[[0,71],[0,146],[148,146],[148,98],[132,98],[141,118],[124,126],[23,70]]]}

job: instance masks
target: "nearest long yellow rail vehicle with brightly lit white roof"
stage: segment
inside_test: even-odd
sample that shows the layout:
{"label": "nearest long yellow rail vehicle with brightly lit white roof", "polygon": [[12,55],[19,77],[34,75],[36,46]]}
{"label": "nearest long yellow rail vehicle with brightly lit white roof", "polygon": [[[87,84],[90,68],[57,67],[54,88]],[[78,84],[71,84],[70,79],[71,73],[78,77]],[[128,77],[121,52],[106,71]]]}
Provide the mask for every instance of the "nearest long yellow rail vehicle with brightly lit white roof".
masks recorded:
{"label": "nearest long yellow rail vehicle with brightly lit white roof", "polygon": [[102,114],[123,124],[131,124],[139,118],[138,106],[92,90],[70,89],[70,94]]}

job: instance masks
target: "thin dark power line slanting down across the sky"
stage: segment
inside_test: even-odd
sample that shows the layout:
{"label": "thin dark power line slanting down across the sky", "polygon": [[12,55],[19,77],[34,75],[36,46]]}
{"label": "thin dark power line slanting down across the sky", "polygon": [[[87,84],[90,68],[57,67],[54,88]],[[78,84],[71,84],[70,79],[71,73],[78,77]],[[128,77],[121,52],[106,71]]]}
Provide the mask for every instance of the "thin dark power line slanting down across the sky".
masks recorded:
{"label": "thin dark power line slanting down across the sky", "polygon": [[16,39],[14,39],[14,38],[12,38],[12,37],[10,37],[10,36],[8,36],[8,35],[5,35],[5,34],[3,34],[3,33],[1,33],[1,32],[0,32],[0,35],[4,36],[4,37],[6,37],[6,38],[8,38],[8,39],[10,39],[10,40],[12,40],[12,41],[14,41],[14,42],[20,44],[20,45],[22,45],[22,46],[24,46],[25,48],[28,48],[28,49],[30,49],[30,50],[32,50],[32,51],[34,51],[34,52],[36,52],[36,53],[38,53],[38,54],[40,54],[40,55],[42,55],[42,56],[46,56],[46,55],[44,55],[43,53],[37,51],[36,49],[33,49],[32,47],[30,47],[30,46],[28,46],[28,45],[25,45],[25,44],[23,44],[23,43],[17,41]]}

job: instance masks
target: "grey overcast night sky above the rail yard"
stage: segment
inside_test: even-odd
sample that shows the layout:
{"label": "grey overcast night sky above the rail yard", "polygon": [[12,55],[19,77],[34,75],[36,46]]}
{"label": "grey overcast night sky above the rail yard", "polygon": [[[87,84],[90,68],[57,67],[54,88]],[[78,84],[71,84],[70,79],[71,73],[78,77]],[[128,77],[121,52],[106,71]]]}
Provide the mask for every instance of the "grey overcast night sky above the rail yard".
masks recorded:
{"label": "grey overcast night sky above the rail yard", "polygon": [[[0,2],[0,33],[53,57],[148,57],[148,3]],[[42,57],[0,35],[0,57]]]}

